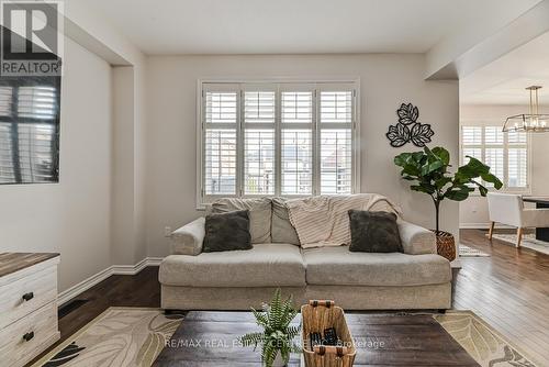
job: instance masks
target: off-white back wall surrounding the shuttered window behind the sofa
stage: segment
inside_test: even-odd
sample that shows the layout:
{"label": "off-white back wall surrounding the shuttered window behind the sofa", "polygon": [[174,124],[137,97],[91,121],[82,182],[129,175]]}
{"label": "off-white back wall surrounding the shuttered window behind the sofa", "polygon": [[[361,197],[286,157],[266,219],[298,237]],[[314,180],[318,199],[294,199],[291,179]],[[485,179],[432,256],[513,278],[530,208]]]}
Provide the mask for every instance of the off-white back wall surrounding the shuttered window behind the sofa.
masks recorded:
{"label": "off-white back wall surrounding the shuttered window behind the sofa", "polygon": [[[384,134],[400,103],[419,107],[434,143],[458,155],[458,85],[425,81],[422,55],[150,56],[147,59],[146,235],[149,256],[168,254],[164,227],[201,215],[195,208],[197,79],[204,77],[360,77],[361,189],[400,203],[405,215],[433,226],[430,199],[399,178],[396,149]],[[457,163],[457,160],[455,160]],[[457,234],[458,205],[442,205],[442,227]]]}

